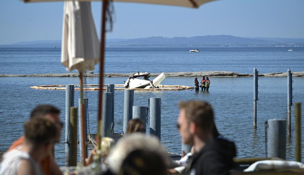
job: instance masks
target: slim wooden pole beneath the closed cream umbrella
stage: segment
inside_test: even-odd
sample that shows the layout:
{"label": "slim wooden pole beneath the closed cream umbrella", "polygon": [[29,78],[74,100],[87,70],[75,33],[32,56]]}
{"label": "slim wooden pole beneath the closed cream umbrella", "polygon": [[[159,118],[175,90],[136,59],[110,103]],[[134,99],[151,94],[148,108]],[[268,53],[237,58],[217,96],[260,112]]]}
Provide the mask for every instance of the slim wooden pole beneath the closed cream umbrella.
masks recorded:
{"label": "slim wooden pole beneath the closed cream umbrella", "polygon": [[86,157],[86,152],[87,152],[87,147],[86,147],[86,144],[87,144],[87,136],[85,136],[85,122],[84,122],[84,117],[85,117],[85,100],[84,100],[84,95],[83,95],[83,76],[82,76],[82,73],[80,73],[80,99],[81,99],[81,105],[80,105],[80,121],[81,123],[79,123],[81,125],[81,139],[82,139],[82,163],[83,163],[83,166],[85,166],[85,159],[87,158]]}

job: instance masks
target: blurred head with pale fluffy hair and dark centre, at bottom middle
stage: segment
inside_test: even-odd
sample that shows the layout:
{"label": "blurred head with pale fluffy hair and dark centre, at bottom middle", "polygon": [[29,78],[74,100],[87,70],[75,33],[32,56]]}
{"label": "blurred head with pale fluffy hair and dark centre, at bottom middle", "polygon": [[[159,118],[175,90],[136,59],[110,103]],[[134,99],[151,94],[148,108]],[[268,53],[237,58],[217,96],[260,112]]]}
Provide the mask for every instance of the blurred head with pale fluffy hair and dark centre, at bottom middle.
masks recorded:
{"label": "blurred head with pale fluffy hair and dark centre, at bottom middle", "polygon": [[109,169],[119,175],[167,174],[166,150],[155,136],[133,133],[118,141],[108,156]]}

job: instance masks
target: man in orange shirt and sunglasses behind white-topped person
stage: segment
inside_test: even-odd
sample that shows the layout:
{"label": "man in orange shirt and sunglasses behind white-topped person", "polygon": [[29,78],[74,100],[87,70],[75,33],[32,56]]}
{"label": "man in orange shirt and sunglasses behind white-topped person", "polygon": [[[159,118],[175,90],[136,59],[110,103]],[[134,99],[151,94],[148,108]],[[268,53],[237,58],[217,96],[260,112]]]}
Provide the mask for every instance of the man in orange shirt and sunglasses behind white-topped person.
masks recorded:
{"label": "man in orange shirt and sunglasses behind white-topped person", "polygon": [[[54,106],[38,105],[33,109],[33,111],[31,112],[31,116],[30,116],[31,119],[34,119],[37,117],[47,118],[56,125],[58,134],[54,140],[54,143],[58,143],[60,141],[60,131],[63,127],[63,123],[61,123],[60,119],[59,119],[59,113],[60,113],[60,110]],[[9,151],[13,150],[14,148],[16,148],[19,145],[22,145],[24,143],[24,141],[25,141],[24,136],[21,136],[18,140],[16,140],[12,144],[12,146],[9,148]],[[54,161],[53,150],[50,150],[49,155],[40,161],[40,168],[42,169],[42,171],[45,175],[62,174],[59,167],[57,166],[57,164]]]}

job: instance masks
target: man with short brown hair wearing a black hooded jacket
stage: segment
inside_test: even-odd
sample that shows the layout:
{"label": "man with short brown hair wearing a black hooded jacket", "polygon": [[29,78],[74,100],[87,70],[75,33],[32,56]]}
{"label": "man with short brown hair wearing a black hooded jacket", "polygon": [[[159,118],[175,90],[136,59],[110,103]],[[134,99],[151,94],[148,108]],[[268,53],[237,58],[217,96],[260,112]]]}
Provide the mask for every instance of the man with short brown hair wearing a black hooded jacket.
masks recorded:
{"label": "man with short brown hair wearing a black hooded jacket", "polygon": [[211,105],[203,101],[180,102],[178,128],[182,142],[195,148],[189,175],[226,175],[235,167],[234,143],[214,137]]}

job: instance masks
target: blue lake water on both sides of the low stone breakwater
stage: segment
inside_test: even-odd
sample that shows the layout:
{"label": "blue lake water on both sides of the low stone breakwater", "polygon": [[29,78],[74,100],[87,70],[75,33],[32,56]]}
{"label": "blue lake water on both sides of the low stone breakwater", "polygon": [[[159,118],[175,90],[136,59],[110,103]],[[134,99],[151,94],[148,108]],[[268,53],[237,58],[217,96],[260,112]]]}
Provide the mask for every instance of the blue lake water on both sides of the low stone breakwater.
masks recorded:
{"label": "blue lake water on both sides of the low stone breakwater", "polygon": [[[13,50],[16,48],[13,48]],[[9,48],[0,49],[0,64],[1,72],[6,74],[32,74],[32,73],[57,73],[65,72],[64,67],[60,65],[60,51],[51,53],[50,48],[36,48],[39,53],[33,54],[34,48],[22,48],[13,52]],[[21,50],[22,50],[21,49]],[[286,48],[199,48],[202,52],[201,59],[194,59],[195,64],[190,62],[190,57],[193,58],[197,53],[188,53],[190,48],[183,48],[185,55],[190,55],[189,58],[180,61],[182,56],[174,58],[166,53],[166,49],[180,50],[180,48],[107,48],[106,57],[106,72],[178,72],[178,71],[199,71],[196,70],[202,65],[202,62],[214,62],[218,59],[216,65],[208,64],[208,67],[200,70],[228,70],[241,73],[251,73],[254,66],[260,72],[285,72],[289,67],[292,71],[303,71],[304,68],[304,50],[295,48],[294,52],[288,52]],[[111,50],[113,52],[110,52]],[[130,50],[133,50],[131,52]],[[213,50],[214,55],[206,57],[208,50]],[[223,49],[221,51],[221,49]],[[232,50],[236,50],[233,52]],[[244,51],[242,51],[244,49]],[[250,51],[251,49],[251,51]],[[254,49],[261,49],[257,52]],[[269,52],[267,52],[269,49]],[[283,55],[271,55],[275,50]],[[115,50],[115,52],[114,52]],[[121,53],[119,53],[121,50]],[[139,51],[143,58],[140,58]],[[152,53],[155,50],[156,53]],[[216,53],[219,50],[220,53]],[[229,51],[228,51],[229,50]],[[286,50],[286,53],[285,53]],[[138,52],[137,52],[138,51]],[[146,52],[145,52],[146,51]],[[3,54],[3,53],[6,53]],[[22,57],[18,57],[17,52],[23,52]],[[28,54],[25,54],[28,52]],[[129,52],[129,54],[126,54]],[[219,55],[228,55],[221,58]],[[241,53],[247,52],[247,56]],[[265,57],[262,56],[264,52]],[[110,54],[112,53],[112,55]],[[150,54],[148,54],[150,53]],[[173,51],[171,52],[174,53]],[[10,55],[11,54],[11,55]],[[136,62],[129,68],[123,68],[123,64],[129,62],[119,61],[119,58],[124,59],[123,55],[130,62]],[[209,53],[211,54],[211,53]],[[293,54],[292,56],[290,56]],[[157,67],[152,64],[149,58],[158,57],[160,55],[168,55],[168,60],[164,60],[166,64],[158,64],[157,70],[153,71],[151,67]],[[174,54],[177,55],[177,54]],[[212,54],[211,54],[212,55]],[[230,59],[233,55],[238,57],[240,64],[236,60],[231,64]],[[259,56],[257,56],[259,55]],[[283,57],[290,56],[288,63]],[[49,57],[46,57],[49,56]],[[146,56],[146,57],[144,57]],[[169,57],[170,56],[170,57]],[[244,60],[240,61],[241,56]],[[34,57],[39,60],[39,63],[34,63]],[[134,59],[137,57],[138,59]],[[278,59],[280,57],[281,59]],[[11,58],[11,59],[10,59]],[[115,61],[110,61],[113,58]],[[146,58],[146,59],[144,59]],[[211,59],[213,58],[213,59]],[[249,59],[251,58],[251,59]],[[261,59],[258,59],[261,58]],[[163,58],[164,59],[164,58]],[[225,61],[226,60],[226,61]],[[245,64],[245,62],[248,64]],[[275,60],[275,61],[274,61]],[[281,61],[278,61],[281,60]],[[27,62],[28,61],[28,62]],[[148,63],[147,63],[148,62]],[[189,64],[188,64],[189,62]],[[264,62],[264,63],[263,63]],[[22,65],[22,66],[20,66]],[[175,66],[174,66],[175,65]],[[196,67],[194,67],[196,65]],[[210,65],[210,66],[209,66]],[[229,66],[230,65],[230,66]],[[31,69],[33,67],[33,69]],[[128,66],[129,67],[129,66]],[[230,67],[230,68],[229,68]],[[147,69],[145,69],[147,68]],[[228,69],[229,68],[229,69]],[[263,71],[262,71],[263,70]],[[98,72],[98,71],[97,71]],[[186,85],[193,86],[193,77],[167,77],[162,84],[165,85]],[[29,86],[48,85],[48,84],[79,84],[78,77],[1,77],[0,89],[0,150],[6,150],[11,143],[18,139],[23,134],[23,123],[29,118],[29,113],[34,106],[41,103],[48,103],[57,106],[61,110],[60,119],[64,122],[65,116],[65,91],[64,90],[42,90],[30,89]],[[122,84],[126,80],[124,77],[106,77],[105,83]],[[212,104],[215,111],[216,125],[219,132],[229,140],[236,143],[237,157],[263,157],[265,156],[265,137],[264,137],[264,122],[268,119],[287,119],[287,78],[259,78],[259,101],[257,102],[257,130],[253,129],[253,78],[219,78],[211,77],[209,93],[195,92],[190,90],[184,91],[135,91],[134,105],[147,106],[148,98],[160,97],[161,99],[161,142],[169,152],[180,153],[181,143],[180,135],[176,128],[177,117],[179,114],[178,102],[180,100],[200,99],[208,101]],[[304,104],[304,78],[293,78],[293,102],[301,102]],[[86,77],[85,84],[98,84],[98,77]],[[115,133],[121,133],[123,130],[123,91],[115,92]],[[97,91],[85,91],[85,97],[89,99],[89,119],[90,133],[96,132],[97,120]],[[79,91],[75,91],[75,105],[78,105]],[[304,113],[302,105],[302,114]],[[294,159],[294,114],[292,106],[292,138],[287,141],[286,158]],[[304,130],[304,122],[302,120],[302,131]],[[64,129],[61,132],[60,143],[55,146],[55,158],[59,165],[64,165]],[[302,134],[302,145],[304,145],[304,134]],[[302,157],[304,153],[302,153]]]}

